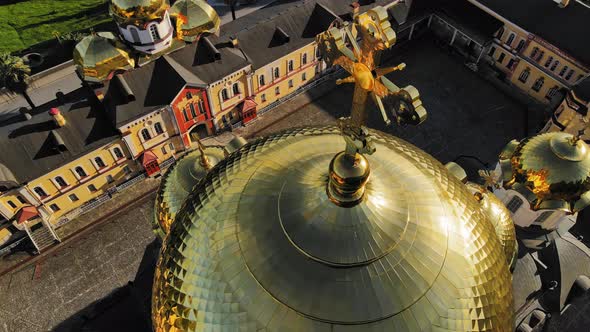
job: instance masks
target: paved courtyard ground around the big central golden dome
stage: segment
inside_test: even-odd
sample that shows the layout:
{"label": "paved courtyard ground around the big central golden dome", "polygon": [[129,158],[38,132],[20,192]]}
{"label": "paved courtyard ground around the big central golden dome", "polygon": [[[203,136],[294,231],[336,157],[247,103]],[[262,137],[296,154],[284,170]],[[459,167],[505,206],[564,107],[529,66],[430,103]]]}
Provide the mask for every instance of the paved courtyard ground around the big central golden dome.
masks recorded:
{"label": "paved courtyard ground around the big central golden dome", "polygon": [[[527,134],[525,124],[532,134],[546,117],[542,110],[529,109],[499,92],[429,39],[397,51],[390,63],[398,61],[406,62],[407,69],[389,77],[420,90],[429,119],[419,127],[386,128],[373,109],[369,126],[400,136],[442,162],[467,155],[491,165],[510,139]],[[349,113],[351,98],[352,86],[326,83],[234,134],[249,137],[333,124]],[[472,171],[483,167],[470,158],[458,162]],[[149,329],[151,276],[158,252],[150,224],[152,208],[153,197],[39,265],[0,277],[0,332]]]}

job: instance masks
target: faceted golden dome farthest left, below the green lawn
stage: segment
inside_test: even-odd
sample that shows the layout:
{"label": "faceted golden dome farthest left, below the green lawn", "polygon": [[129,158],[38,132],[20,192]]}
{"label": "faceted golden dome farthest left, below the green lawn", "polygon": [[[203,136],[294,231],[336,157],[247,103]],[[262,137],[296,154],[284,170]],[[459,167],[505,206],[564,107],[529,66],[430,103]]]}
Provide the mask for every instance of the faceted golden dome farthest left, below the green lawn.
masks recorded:
{"label": "faceted golden dome farthest left, below the green lawn", "polygon": [[129,51],[110,32],[84,37],[74,48],[74,63],[82,79],[90,82],[102,82],[135,66]]}

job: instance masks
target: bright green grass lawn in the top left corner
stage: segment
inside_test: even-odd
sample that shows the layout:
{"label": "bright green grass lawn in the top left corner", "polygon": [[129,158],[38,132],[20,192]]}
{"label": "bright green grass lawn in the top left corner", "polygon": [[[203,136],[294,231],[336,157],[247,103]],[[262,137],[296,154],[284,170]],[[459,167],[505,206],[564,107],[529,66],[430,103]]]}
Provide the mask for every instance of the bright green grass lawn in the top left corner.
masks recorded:
{"label": "bright green grass lawn in the top left corner", "polygon": [[[107,0],[22,0],[0,5],[0,52],[14,52],[110,21]],[[1,3],[1,2],[0,2]],[[76,34],[68,38],[78,38]],[[75,40],[75,39],[74,39]]]}

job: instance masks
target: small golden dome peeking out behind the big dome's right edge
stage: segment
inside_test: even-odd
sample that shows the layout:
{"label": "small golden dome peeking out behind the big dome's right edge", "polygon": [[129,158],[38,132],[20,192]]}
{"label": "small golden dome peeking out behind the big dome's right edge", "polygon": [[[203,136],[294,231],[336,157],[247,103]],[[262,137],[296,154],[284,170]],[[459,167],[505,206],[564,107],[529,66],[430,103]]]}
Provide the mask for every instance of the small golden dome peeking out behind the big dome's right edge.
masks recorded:
{"label": "small golden dome peeking out behind the big dome's right edge", "polygon": [[494,225],[496,235],[500,240],[502,248],[504,248],[506,262],[510,266],[510,269],[514,268],[518,254],[518,242],[516,241],[516,230],[510,211],[508,211],[504,203],[496,195],[484,187],[468,182],[467,188],[475,195],[482,210]]}

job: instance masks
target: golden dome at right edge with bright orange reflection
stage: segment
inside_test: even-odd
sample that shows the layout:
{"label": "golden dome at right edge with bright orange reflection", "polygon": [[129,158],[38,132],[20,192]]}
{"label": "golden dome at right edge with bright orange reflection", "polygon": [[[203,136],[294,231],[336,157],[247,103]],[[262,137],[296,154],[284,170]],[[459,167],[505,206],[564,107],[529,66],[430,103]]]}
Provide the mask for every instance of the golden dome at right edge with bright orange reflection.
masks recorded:
{"label": "golden dome at right edge with bright orange reflection", "polygon": [[575,213],[590,202],[590,152],[571,134],[552,132],[513,141],[500,164],[504,187],[520,192],[534,210]]}

